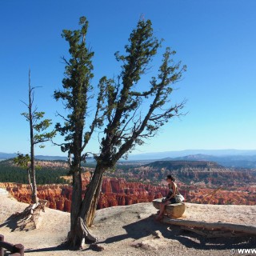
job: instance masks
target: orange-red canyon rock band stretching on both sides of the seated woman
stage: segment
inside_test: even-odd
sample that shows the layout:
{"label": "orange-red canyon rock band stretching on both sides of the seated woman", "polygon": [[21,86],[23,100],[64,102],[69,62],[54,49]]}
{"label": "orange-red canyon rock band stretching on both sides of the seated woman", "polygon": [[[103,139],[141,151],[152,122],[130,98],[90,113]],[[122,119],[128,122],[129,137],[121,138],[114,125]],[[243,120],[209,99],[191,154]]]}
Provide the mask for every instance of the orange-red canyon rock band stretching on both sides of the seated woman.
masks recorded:
{"label": "orange-red canyon rock band stretching on both sides of the seated woman", "polygon": [[[90,182],[90,174],[82,176],[82,190]],[[0,183],[10,194],[20,202],[30,203],[30,186],[16,183]],[[229,190],[210,189],[198,186],[186,186],[178,183],[181,194],[186,202],[209,204],[256,205],[255,186],[234,187]],[[126,182],[124,178],[103,178],[102,193],[98,200],[98,209],[111,206],[126,206],[139,202],[152,202],[168,193],[167,186],[153,186],[141,182]],[[42,185],[38,186],[38,198],[48,201],[52,209],[70,212],[72,186],[70,185]]]}

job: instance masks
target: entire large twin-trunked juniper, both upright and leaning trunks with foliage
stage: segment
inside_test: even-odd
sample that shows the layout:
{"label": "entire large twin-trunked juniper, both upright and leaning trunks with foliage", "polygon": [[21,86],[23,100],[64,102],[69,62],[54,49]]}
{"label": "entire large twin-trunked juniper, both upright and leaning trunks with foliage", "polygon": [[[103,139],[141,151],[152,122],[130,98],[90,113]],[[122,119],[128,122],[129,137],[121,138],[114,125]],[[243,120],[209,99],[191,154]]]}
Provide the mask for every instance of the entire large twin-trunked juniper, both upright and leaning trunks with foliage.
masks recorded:
{"label": "entire large twin-trunked juniper, both upright and leaning trunks with foliage", "polygon": [[[166,48],[158,75],[143,87],[146,90],[141,89],[139,81],[158,53],[162,40],[154,37],[150,20],[139,20],[130,34],[129,44],[125,46],[126,53],[115,54],[117,61],[122,62],[121,73],[116,80],[100,79],[94,119],[90,126],[86,126],[90,79],[94,76],[91,62],[94,53],[86,46],[86,18],[80,18],[80,25],[81,30],[63,30],[62,36],[70,44],[71,58],[63,58],[66,62],[66,78],[62,81],[64,90],[54,92],[54,97],[62,99],[66,110],[69,110],[67,117],[62,116],[64,125],[58,123],[56,128],[65,136],[62,150],[68,151],[73,174],[69,240],[74,246],[81,246],[83,238],[96,240],[87,227],[94,220],[104,172],[114,167],[136,145],[142,145],[146,139],[153,137],[170,118],[181,114],[185,102],[172,104],[170,94],[172,86],[186,70],[181,62],[173,61],[175,52]],[[148,109],[145,102],[150,102]],[[85,132],[86,127],[89,129]],[[82,198],[81,162],[86,156],[82,151],[96,128],[103,131],[100,152],[95,155],[97,166]]]}

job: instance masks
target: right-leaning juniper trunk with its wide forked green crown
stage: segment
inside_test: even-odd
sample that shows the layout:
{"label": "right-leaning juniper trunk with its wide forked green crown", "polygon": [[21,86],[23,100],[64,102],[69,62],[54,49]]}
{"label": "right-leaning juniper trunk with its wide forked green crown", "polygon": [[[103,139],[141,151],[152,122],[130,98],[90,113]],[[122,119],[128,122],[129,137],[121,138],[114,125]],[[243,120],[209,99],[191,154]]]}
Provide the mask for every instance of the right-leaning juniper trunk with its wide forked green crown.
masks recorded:
{"label": "right-leaning juniper trunk with its wide forked green crown", "polygon": [[[129,45],[125,46],[126,54],[115,54],[118,62],[122,62],[118,80],[102,78],[102,90],[106,95],[106,126],[100,154],[96,157],[97,166],[82,202],[81,215],[86,226],[93,224],[104,172],[113,168],[136,145],[154,137],[170,118],[182,114],[185,102],[173,104],[170,100],[174,83],[186,70],[181,62],[175,63],[172,59],[175,51],[166,48],[158,76],[150,79],[147,90],[143,91],[139,83],[161,44],[162,40],[154,37],[150,20],[140,20],[130,34]],[[147,110],[145,102],[150,102]]]}

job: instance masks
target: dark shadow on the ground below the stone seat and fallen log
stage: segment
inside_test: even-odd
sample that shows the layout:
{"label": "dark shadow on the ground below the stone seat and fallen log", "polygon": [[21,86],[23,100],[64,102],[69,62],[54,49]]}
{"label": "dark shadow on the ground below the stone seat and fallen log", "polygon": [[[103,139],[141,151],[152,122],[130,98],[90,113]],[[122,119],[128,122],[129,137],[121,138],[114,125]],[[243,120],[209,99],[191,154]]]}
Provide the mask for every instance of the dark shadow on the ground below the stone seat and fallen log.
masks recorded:
{"label": "dark shadow on the ground below the stone seat and fallen log", "polygon": [[194,248],[198,250],[231,250],[239,248],[249,249],[254,248],[256,244],[256,236],[205,238],[200,234],[195,234],[194,232],[188,230],[182,230],[180,226],[155,222],[153,215],[122,227],[126,230],[126,234],[106,238],[105,241],[97,243],[108,244],[112,242],[119,242],[128,238],[139,240],[152,235],[152,238],[176,240],[187,248]]}

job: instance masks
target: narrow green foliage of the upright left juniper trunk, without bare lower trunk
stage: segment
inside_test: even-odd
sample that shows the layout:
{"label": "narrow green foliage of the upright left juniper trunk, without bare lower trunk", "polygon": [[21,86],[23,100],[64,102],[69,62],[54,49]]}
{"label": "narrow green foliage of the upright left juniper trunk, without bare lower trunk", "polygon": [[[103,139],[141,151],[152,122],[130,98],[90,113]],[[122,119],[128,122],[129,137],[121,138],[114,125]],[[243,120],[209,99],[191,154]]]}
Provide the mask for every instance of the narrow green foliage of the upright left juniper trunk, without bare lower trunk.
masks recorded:
{"label": "narrow green foliage of the upright left juniper trunk, without bare lower trunk", "polygon": [[[62,100],[65,109],[68,111],[66,117],[63,117],[64,123],[58,122],[56,130],[64,136],[65,142],[62,143],[62,151],[68,151],[73,154],[74,165],[79,165],[82,161],[82,150],[90,140],[90,136],[97,126],[102,126],[102,118],[98,118],[96,111],[94,121],[90,129],[84,132],[86,126],[86,115],[88,115],[88,102],[91,98],[90,91],[92,86],[91,79],[94,77],[92,70],[92,57],[94,52],[86,46],[86,33],[88,30],[88,21],[85,17],[80,18],[80,30],[63,30],[62,38],[65,38],[70,45],[70,59],[66,60],[65,78],[62,80],[63,90],[55,90],[54,98]],[[98,95],[97,109],[102,107],[102,94]],[[71,161],[71,160],[70,160]]]}

